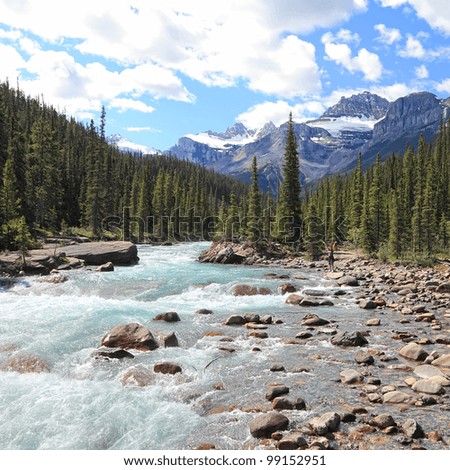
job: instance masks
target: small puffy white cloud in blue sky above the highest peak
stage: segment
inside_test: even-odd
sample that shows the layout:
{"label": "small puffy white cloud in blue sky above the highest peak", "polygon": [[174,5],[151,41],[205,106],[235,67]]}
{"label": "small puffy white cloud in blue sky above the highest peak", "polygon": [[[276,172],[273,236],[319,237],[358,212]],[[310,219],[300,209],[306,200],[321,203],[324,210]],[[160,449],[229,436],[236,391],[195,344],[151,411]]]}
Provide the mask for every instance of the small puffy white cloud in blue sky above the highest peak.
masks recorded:
{"label": "small puffy white cloud in blue sky above the highest peak", "polygon": [[377,81],[383,73],[383,66],[377,54],[369,52],[366,48],[358,51],[352,57],[352,50],[347,44],[335,42],[337,37],[331,33],[322,36],[325,46],[326,58],[342,65],[350,73],[362,72],[368,81]]}

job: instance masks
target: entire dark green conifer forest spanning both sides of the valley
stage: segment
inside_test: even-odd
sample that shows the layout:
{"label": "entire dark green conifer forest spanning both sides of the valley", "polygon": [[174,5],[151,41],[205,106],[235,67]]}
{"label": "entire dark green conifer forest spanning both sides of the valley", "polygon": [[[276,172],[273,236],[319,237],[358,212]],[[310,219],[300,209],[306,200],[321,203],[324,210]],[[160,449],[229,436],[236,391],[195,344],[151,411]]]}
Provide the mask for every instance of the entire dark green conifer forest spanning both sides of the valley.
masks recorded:
{"label": "entire dark green conifer forest spanning both sides of the valley", "polygon": [[346,243],[383,259],[449,255],[450,127],[420,139],[363,172],[300,187],[289,118],[283,181],[276,199],[258,186],[174,157],[123,153],[106,142],[106,113],[89,125],[0,85],[1,249],[27,249],[36,237],[261,240],[310,258],[323,241]]}

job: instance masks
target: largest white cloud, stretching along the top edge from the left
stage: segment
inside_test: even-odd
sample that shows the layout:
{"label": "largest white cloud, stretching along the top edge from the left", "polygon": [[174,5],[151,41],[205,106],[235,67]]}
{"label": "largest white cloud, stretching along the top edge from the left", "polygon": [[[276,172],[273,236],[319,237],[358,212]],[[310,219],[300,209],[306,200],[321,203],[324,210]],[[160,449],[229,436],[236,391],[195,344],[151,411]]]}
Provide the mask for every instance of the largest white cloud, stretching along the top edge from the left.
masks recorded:
{"label": "largest white cloud, stretching along the top edge from the left", "polygon": [[[312,44],[295,34],[331,27],[367,9],[367,0],[0,0],[2,23],[65,44],[122,67],[152,64],[172,74],[148,91],[155,98],[193,101],[176,83],[181,72],[208,86],[248,83],[284,97],[320,90]],[[49,14],[51,12],[51,14]],[[286,37],[286,32],[292,35]],[[255,51],[258,57],[255,57]],[[289,54],[295,54],[295,60]],[[257,66],[255,66],[255,62]],[[259,67],[258,67],[259,66]],[[262,78],[262,72],[270,77]],[[137,71],[135,71],[137,73]],[[161,77],[162,74],[159,74]],[[140,79],[148,83],[151,78]]]}

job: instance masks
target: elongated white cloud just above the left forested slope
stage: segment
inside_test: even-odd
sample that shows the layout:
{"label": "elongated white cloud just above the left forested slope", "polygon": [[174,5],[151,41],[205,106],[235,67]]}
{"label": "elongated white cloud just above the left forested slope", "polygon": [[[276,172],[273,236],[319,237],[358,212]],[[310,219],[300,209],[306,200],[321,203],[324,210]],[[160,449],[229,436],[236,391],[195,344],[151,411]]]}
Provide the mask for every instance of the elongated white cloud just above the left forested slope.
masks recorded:
{"label": "elongated white cloud just above the left forested slope", "polygon": [[70,114],[97,111],[102,102],[108,105],[113,100],[113,106],[121,111],[148,113],[154,108],[142,98],[149,95],[153,99],[195,100],[173,72],[159,65],[148,63],[112,72],[99,62],[81,65],[65,51],[44,51],[25,39],[20,39],[20,44],[30,54],[28,61],[13,46],[0,43],[0,57],[6,59],[0,61],[1,79],[19,77],[26,93],[43,95],[47,102]]}

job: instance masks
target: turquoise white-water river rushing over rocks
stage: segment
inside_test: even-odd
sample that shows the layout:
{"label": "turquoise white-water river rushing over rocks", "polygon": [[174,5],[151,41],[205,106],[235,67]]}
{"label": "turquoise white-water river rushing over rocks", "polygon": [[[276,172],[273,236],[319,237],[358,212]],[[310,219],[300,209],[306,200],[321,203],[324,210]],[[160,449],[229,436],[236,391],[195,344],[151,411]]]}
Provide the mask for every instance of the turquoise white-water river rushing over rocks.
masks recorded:
{"label": "turquoise white-water river rushing over rocks", "polygon": [[[287,294],[279,292],[286,281],[266,274],[297,277],[289,282],[300,290],[325,289],[335,306],[314,313],[338,320],[341,328],[355,329],[367,319],[352,289],[333,297],[335,284],[319,271],[200,264],[207,246],[140,246],[133,267],[71,271],[62,284],[27,278],[1,292],[0,362],[29,353],[45,360],[50,372],[0,372],[0,449],[191,449],[205,441],[222,449],[253,448],[257,441],[248,425],[255,414],[248,411],[270,405],[264,395],[272,382],[287,384],[290,397],[308,405],[288,412],[293,425],[336,405],[360,403],[357,390],[336,385],[343,365],[354,366],[354,351],[332,346],[326,327],[313,341],[289,344],[305,330],[300,321],[309,311],[286,304]],[[273,294],[233,296],[233,286],[244,283]],[[213,313],[199,315],[198,309]],[[168,311],[181,321],[153,320]],[[267,339],[250,337],[245,326],[223,325],[231,314],[249,312],[278,320],[268,326]],[[121,361],[91,357],[109,330],[129,322],[146,325],[155,337],[174,331],[180,347],[133,352],[134,359]],[[375,335],[371,347],[386,345]],[[176,362],[183,372],[154,374],[147,387],[122,385],[130,369],[152,370],[162,361]],[[286,371],[271,372],[276,363]]]}

